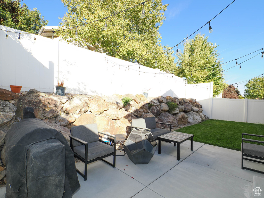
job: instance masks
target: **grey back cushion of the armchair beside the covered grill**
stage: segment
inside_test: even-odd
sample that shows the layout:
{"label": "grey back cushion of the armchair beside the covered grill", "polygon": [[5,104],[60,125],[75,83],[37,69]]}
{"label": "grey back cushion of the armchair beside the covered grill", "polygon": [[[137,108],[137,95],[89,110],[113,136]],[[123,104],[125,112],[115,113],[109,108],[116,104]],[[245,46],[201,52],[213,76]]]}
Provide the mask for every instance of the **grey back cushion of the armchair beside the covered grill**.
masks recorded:
{"label": "grey back cushion of the armchair beside the covered grill", "polygon": [[[97,124],[73,126],[70,129],[70,134],[88,143],[99,141]],[[72,140],[72,144],[74,147],[81,145],[75,140]]]}

